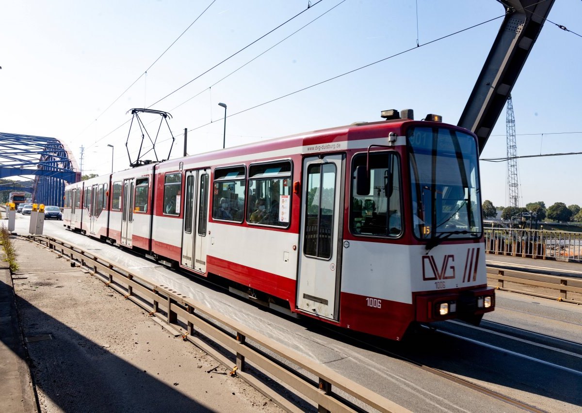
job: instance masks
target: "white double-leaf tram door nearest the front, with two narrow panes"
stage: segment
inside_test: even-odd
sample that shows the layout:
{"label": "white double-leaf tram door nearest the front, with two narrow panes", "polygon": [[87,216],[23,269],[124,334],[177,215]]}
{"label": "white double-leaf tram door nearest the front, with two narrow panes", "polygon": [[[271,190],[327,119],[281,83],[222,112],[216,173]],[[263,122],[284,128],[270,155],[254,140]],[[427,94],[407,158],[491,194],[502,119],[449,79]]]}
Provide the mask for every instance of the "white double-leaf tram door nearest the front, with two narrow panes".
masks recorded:
{"label": "white double-leaf tram door nearest the front, with two narrow panes", "polygon": [[206,272],[208,181],[208,174],[203,170],[186,171],[181,263],[203,273]]}

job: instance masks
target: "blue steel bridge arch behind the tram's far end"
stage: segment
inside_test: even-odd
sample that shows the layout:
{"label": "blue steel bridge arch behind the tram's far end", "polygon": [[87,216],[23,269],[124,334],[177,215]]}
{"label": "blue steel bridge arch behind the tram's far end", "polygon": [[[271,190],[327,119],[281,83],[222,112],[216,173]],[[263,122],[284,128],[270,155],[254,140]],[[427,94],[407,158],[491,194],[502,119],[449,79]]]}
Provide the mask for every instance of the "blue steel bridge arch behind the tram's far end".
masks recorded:
{"label": "blue steel bridge arch behind the tram's far end", "polygon": [[0,178],[26,175],[34,175],[33,202],[59,207],[65,185],[81,180],[77,161],[59,139],[0,132]]}

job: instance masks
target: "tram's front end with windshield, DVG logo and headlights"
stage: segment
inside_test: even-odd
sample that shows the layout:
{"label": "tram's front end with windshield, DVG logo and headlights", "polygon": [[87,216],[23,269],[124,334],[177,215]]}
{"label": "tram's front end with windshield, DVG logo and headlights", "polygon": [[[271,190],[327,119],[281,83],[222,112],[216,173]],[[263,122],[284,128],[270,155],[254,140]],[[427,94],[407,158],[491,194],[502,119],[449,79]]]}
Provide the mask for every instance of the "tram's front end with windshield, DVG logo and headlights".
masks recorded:
{"label": "tram's front end with windshield, DVG logo and headlights", "polygon": [[495,296],[485,270],[477,139],[437,122],[411,125],[406,137],[416,321],[478,324]]}

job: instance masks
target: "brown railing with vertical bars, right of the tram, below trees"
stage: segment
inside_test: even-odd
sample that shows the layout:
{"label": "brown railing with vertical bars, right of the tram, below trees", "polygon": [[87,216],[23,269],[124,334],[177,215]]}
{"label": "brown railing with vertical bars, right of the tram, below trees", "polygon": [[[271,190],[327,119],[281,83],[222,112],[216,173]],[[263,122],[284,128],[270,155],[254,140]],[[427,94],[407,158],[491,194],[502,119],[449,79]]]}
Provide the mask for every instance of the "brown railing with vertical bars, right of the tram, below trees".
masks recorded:
{"label": "brown railing with vertical bars, right of the tram, below trees", "polygon": [[582,232],[485,228],[485,252],[582,263]]}

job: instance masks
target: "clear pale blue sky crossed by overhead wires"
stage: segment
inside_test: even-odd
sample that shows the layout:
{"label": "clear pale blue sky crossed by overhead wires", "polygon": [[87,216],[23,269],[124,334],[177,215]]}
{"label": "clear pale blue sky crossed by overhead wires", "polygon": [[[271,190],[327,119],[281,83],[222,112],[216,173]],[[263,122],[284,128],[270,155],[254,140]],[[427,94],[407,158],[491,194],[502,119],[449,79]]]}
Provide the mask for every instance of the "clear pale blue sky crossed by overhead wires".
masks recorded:
{"label": "clear pale blue sky crossed by overhead wires", "polygon": [[[4,2],[0,131],[58,137],[68,142],[77,159],[83,145],[84,173],[110,170],[109,143],[115,146],[115,170],[127,168],[129,123],[112,132],[130,120],[127,110],[152,105],[307,6],[307,0],[216,0],[147,76],[104,112],[211,1]],[[314,5],[152,106],[173,115],[172,131],[180,136],[172,157],[182,153],[184,128],[211,120],[211,125],[189,132],[188,152],[222,147],[224,111],[218,102],[234,114],[414,48],[417,38],[421,47],[396,58],[229,117],[226,145],[379,120],[384,109],[411,108],[417,118],[438,113],[456,124],[501,19],[422,45],[502,16],[495,0],[418,0],[418,19],[413,0],[346,0],[215,84],[340,1]],[[549,20],[582,34],[580,16],[581,1],[557,0]],[[512,92],[518,155],[582,152],[581,68],[582,37],[546,22]],[[137,141],[132,138],[133,151]],[[158,153],[166,157],[168,149],[162,144]],[[482,157],[505,152],[503,112]],[[523,204],[543,200],[546,206],[582,205],[581,163],[582,155],[520,159]],[[481,162],[481,182],[483,199],[496,206],[508,204],[505,163]]]}

